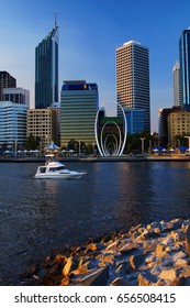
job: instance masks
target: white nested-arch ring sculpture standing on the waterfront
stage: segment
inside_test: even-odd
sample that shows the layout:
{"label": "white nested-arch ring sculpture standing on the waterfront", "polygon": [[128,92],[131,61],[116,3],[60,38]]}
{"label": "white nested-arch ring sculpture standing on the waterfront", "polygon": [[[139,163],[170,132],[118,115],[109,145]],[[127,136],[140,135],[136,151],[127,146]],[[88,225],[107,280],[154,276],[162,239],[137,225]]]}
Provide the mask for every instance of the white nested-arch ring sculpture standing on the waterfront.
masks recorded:
{"label": "white nested-arch ring sculpture standing on the waterfront", "polygon": [[[124,113],[124,110],[122,108],[122,106],[118,102],[119,107],[121,108],[122,110],[122,113],[123,113],[123,119],[124,119],[124,138],[123,138],[123,141],[122,141],[122,132],[119,128],[119,125],[114,122],[114,121],[108,121],[103,128],[101,129],[101,132],[98,132],[98,119],[99,119],[99,112],[101,110],[101,107],[99,108],[99,110],[97,111],[97,117],[96,117],[96,123],[94,123],[94,134],[96,134],[96,141],[97,141],[97,146],[98,146],[98,150],[99,150],[99,153],[101,156],[108,156],[107,155],[107,152],[108,152],[108,147],[107,147],[107,140],[109,138],[109,135],[105,136],[104,139],[104,142],[103,142],[103,131],[104,131],[104,128],[107,124],[109,123],[113,123],[116,128],[118,128],[118,131],[119,131],[119,142],[118,142],[118,139],[115,135],[112,134],[112,136],[114,138],[115,140],[115,151],[114,151],[114,155],[115,156],[121,156],[123,154],[123,151],[124,151],[124,147],[125,147],[125,143],[126,143],[126,135],[127,135],[127,122],[126,122],[126,116]],[[99,142],[99,139],[100,139],[100,142]],[[112,142],[113,143],[113,142]]]}

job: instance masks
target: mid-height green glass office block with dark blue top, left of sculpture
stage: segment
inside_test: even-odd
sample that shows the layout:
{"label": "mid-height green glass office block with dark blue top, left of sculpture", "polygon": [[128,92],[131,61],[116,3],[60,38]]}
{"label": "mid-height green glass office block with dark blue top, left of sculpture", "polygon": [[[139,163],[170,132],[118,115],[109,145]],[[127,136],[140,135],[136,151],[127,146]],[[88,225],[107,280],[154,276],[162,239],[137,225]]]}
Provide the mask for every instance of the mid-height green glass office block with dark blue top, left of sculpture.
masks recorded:
{"label": "mid-height green glass office block with dark blue top, left of sculpture", "polygon": [[60,144],[70,140],[94,143],[94,122],[99,107],[97,84],[64,81],[60,92]]}

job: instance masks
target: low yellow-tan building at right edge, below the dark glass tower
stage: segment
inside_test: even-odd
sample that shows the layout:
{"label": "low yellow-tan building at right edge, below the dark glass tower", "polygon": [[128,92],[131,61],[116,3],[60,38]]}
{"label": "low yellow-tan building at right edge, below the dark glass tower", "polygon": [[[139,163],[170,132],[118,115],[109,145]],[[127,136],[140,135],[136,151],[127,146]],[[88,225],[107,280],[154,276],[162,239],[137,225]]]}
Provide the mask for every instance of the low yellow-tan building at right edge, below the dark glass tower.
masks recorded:
{"label": "low yellow-tan building at right edge, below the dark glass tower", "polygon": [[190,112],[178,111],[168,116],[168,141],[174,145],[175,136],[190,135]]}

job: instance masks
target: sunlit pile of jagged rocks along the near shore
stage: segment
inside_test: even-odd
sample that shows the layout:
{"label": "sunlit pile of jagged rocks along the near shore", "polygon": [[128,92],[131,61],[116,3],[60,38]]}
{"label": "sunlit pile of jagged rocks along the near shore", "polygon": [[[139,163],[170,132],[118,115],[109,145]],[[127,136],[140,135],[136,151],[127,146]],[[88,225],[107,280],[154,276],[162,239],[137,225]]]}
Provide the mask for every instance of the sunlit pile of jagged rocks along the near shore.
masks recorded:
{"label": "sunlit pile of jagged rocks along the near shore", "polygon": [[138,224],[47,257],[23,285],[190,286],[190,220]]}

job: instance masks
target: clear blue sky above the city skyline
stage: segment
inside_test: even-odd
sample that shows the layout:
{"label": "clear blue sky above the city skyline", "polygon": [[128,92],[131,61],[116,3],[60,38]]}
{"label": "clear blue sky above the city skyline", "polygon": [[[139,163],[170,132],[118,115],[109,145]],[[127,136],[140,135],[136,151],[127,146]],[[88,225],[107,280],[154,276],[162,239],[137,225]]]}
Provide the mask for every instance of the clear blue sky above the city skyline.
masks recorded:
{"label": "clear blue sky above the city skyline", "polygon": [[190,26],[188,0],[0,0],[0,70],[34,99],[35,46],[59,25],[59,86],[85,79],[99,86],[100,105],[115,108],[115,48],[134,40],[149,48],[152,131],[158,109],[172,107],[172,67]]}

